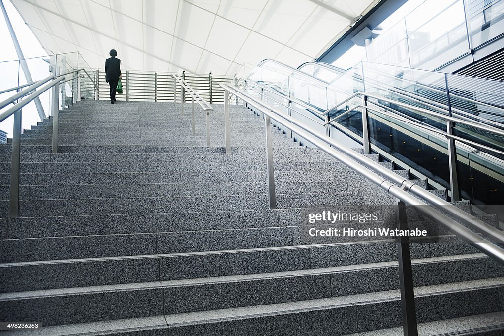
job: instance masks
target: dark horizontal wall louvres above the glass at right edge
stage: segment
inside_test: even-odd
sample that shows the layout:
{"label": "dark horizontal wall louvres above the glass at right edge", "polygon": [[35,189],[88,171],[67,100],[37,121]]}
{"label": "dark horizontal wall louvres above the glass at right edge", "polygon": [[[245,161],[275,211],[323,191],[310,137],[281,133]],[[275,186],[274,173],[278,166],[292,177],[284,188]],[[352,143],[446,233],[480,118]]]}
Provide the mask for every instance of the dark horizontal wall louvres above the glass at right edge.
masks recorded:
{"label": "dark horizontal wall louvres above the glass at right edge", "polygon": [[458,70],[455,74],[504,81],[504,48]]}

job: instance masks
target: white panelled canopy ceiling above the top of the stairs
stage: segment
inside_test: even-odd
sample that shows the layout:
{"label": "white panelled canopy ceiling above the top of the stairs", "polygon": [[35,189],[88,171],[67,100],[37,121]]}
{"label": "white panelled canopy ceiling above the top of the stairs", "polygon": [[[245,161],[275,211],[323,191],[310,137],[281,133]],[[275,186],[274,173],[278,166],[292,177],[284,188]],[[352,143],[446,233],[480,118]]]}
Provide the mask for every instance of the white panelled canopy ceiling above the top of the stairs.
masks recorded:
{"label": "white panelled canopy ceiling above the top of the stairs", "polygon": [[102,68],[234,75],[243,63],[316,58],[379,0],[11,0],[48,53]]}

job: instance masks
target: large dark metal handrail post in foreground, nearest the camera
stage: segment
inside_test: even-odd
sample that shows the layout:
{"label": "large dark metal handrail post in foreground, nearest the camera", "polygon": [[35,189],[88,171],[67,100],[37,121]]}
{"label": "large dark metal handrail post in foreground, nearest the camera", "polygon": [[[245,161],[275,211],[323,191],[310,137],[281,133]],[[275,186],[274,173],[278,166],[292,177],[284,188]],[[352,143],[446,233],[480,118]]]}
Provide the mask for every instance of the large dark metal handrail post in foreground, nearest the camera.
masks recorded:
{"label": "large dark metal handrail post in foreground, nearest the camera", "polygon": [[[396,227],[408,230],[406,221],[406,206],[404,202],[396,203]],[[408,236],[397,237],[397,256],[399,260],[399,284],[401,287],[401,308],[403,317],[403,333],[406,336],[417,336],[415,293],[413,290],[413,273]]]}

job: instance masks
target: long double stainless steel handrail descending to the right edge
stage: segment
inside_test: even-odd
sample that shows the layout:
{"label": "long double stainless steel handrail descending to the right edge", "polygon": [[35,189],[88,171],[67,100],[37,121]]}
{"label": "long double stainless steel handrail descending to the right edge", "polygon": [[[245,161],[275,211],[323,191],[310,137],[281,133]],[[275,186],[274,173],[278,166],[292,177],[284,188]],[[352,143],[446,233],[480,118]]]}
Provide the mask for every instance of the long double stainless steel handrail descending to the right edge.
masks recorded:
{"label": "long double stainless steel handrail descending to the right edge", "polygon": [[[222,87],[226,91],[234,94],[235,96],[240,97],[240,99],[242,99],[243,101],[246,101],[247,104],[250,104],[251,106],[256,106],[257,108],[261,109],[263,113],[269,115],[273,119],[284,124],[287,128],[291,129],[297,134],[300,134],[303,138],[309,139],[310,143],[313,143],[318,148],[324,150],[334,158],[340,160],[342,163],[344,163],[351,169],[362,174],[364,177],[366,177],[376,185],[382,187],[387,192],[391,193],[400,200],[404,201],[404,203],[409,205],[443,206],[443,210],[446,213],[460,220],[465,225],[468,225],[469,227],[483,233],[486,237],[490,237],[497,242],[504,242],[504,233],[502,233],[501,231],[489,226],[488,224],[477,219],[476,217],[453,206],[448,201],[435,196],[428,190],[423,189],[422,187],[414,184],[408,179],[398,175],[397,173],[381,166],[379,163],[376,163],[366,158],[365,156],[355,152],[354,150],[341,145],[340,143],[334,141],[333,139],[327,137],[326,135],[319,133],[317,130],[304,125],[299,120],[292,118],[291,116],[285,115],[281,111],[275,110],[274,108],[268,106],[266,103],[258,101],[257,99],[250,97],[248,94],[244,92],[239,92],[232,86],[222,85]],[[335,149],[338,149],[338,151],[343,154],[339,153]],[[358,163],[353,162],[352,160],[348,160],[348,157],[352,158]],[[379,174],[385,176],[385,178],[383,178]],[[394,185],[394,183],[398,184],[399,187]],[[413,195],[408,193],[408,191],[413,195],[420,197],[427,203],[424,203],[423,201],[413,197]],[[447,229],[455,233],[457,236],[465,240],[471,241],[471,243],[476,248],[480,249],[485,254],[494,257],[501,263],[504,263],[504,250],[497,247],[490,241],[483,239],[481,236],[468,230],[460,223],[451,220],[449,217],[447,217],[446,215],[440,213],[435,209],[429,210],[427,213],[424,214],[436,221],[439,219],[443,219],[441,224],[444,225]],[[448,225],[447,223],[451,224]],[[479,243],[477,243],[476,241],[478,241]]]}

